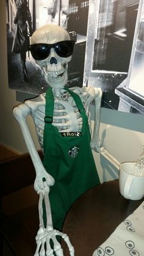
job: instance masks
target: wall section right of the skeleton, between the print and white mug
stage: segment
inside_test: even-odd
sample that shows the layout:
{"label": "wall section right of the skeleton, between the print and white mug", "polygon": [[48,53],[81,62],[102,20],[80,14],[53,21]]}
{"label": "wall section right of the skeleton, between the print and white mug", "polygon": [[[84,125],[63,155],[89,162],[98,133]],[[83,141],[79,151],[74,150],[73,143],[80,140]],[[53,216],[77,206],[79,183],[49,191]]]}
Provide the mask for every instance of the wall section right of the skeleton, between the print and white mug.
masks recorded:
{"label": "wall section right of the skeleton, between the print and white mug", "polygon": [[[144,145],[144,117],[110,109],[101,109],[100,136],[106,150],[120,161],[137,161]],[[103,156],[95,154],[101,181],[117,179],[118,170]]]}

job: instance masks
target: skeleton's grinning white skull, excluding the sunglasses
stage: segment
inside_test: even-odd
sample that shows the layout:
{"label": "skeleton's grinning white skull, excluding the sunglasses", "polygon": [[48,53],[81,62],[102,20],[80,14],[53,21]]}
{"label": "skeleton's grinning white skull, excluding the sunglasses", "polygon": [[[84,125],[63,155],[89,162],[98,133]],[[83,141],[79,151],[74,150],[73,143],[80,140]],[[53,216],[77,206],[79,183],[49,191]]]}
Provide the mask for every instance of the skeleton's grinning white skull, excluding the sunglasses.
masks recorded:
{"label": "skeleton's grinning white skull, excluding the sunglasses", "polygon": [[[68,32],[60,26],[49,24],[37,29],[31,37],[31,44],[53,44],[63,40],[70,40]],[[68,62],[72,56],[60,57],[54,48],[51,48],[49,56],[45,60],[35,60],[44,71],[46,82],[53,89],[63,89],[68,79]]]}

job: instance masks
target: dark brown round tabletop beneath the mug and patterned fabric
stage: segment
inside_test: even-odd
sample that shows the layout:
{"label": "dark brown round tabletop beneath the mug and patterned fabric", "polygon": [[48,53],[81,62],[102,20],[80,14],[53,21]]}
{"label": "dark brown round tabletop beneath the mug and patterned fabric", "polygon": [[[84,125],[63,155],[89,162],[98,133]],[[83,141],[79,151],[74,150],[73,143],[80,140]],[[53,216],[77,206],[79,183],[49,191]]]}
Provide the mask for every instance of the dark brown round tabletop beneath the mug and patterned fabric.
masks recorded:
{"label": "dark brown round tabletop beneath the mug and patterned fabric", "polygon": [[[74,256],[92,256],[116,227],[142,200],[127,200],[119,192],[118,180],[107,181],[85,192],[68,211],[63,225],[74,246]],[[70,256],[62,241],[63,254]]]}

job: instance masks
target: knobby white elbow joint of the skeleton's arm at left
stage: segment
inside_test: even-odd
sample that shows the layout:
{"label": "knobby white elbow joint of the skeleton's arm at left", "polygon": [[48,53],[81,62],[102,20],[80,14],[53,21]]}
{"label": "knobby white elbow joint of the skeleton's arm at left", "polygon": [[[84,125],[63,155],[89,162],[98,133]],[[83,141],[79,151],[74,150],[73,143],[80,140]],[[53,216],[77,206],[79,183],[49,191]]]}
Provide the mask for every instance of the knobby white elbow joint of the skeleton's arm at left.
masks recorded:
{"label": "knobby white elbow joint of the skeleton's arm at left", "polygon": [[35,191],[38,191],[40,189],[44,189],[45,186],[53,186],[54,185],[54,178],[46,172],[45,168],[37,172],[35,181],[34,181],[34,189]]}

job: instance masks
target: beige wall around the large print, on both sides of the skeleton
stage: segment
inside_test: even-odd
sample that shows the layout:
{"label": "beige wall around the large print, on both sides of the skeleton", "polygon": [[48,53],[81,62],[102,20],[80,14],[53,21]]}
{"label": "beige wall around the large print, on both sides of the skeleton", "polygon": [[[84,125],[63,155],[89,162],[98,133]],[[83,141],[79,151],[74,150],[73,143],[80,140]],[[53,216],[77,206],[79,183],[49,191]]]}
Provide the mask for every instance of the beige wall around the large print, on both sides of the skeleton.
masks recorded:
{"label": "beige wall around the large print, on both sides of the skeleton", "polygon": [[[12,109],[19,104],[16,101],[16,93],[10,90],[7,79],[7,45],[6,45],[6,26],[5,26],[5,0],[0,2],[0,144],[13,148],[17,152],[27,152],[18,123],[16,123]],[[92,111],[93,112],[93,111]],[[34,134],[32,120],[28,119],[31,132]],[[135,161],[142,153],[141,146],[144,144],[144,117],[140,114],[130,114],[125,112],[113,111],[103,108],[101,111],[101,130],[100,134],[104,147],[118,161]],[[36,142],[36,136],[34,136]],[[36,143],[38,148],[38,144]],[[118,177],[118,170],[108,163],[103,156],[94,153],[96,166],[101,181],[112,180]]]}

